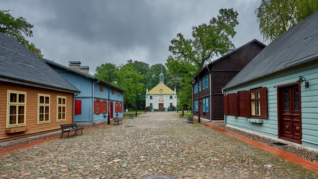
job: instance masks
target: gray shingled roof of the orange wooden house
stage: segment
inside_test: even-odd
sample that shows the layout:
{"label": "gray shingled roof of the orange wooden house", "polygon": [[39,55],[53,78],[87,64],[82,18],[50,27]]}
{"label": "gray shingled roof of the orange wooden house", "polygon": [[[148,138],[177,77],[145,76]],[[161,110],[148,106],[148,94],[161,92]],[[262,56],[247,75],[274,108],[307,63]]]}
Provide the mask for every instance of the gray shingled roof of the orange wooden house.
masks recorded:
{"label": "gray shingled roof of the orange wooden house", "polygon": [[0,76],[80,92],[16,39],[0,32]]}

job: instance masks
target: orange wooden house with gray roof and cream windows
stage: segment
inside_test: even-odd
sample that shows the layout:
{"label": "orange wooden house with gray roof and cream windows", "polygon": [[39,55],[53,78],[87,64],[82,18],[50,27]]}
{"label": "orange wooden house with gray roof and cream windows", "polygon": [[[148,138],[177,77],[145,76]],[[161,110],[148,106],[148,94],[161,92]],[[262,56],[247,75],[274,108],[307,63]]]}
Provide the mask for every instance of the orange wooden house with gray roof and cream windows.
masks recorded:
{"label": "orange wooden house with gray roof and cream windows", "polygon": [[16,39],[0,32],[0,145],[73,123],[74,96],[79,93]]}

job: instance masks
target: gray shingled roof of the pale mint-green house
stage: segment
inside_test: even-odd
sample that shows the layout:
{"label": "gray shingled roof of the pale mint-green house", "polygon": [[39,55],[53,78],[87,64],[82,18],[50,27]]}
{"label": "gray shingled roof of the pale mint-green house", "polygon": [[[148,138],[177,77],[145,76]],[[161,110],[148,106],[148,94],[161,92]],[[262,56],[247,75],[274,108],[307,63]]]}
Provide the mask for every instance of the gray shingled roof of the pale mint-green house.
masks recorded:
{"label": "gray shingled roof of the pale mint-green house", "polygon": [[274,39],[226,88],[318,56],[318,12]]}

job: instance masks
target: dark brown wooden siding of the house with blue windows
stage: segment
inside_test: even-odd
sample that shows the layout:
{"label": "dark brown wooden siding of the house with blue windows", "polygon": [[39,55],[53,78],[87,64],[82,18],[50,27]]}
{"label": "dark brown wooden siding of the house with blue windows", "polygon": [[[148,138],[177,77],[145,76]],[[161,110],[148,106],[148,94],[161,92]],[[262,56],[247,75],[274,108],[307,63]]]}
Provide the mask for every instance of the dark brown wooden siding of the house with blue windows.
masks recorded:
{"label": "dark brown wooden siding of the house with blue windows", "polygon": [[[240,70],[242,70],[260,51],[264,48],[263,45],[258,42],[252,42],[237,51],[234,51],[232,54],[225,56],[221,60],[217,60],[216,62],[212,62],[212,64],[208,65],[209,70],[211,71],[211,82],[209,71],[204,68],[200,73],[201,80],[201,91],[200,91],[200,99],[202,101],[203,98],[210,98],[210,85],[211,85],[211,101],[209,101],[209,116],[207,116],[207,112],[204,115],[204,118],[210,119],[211,112],[211,120],[224,120],[224,109],[223,109],[223,94],[222,88],[230,82]],[[202,79],[203,77],[208,75],[208,88],[202,88]],[[196,81],[198,82],[198,81]],[[211,84],[210,84],[211,83]],[[197,83],[195,83],[197,84]],[[199,85],[199,82],[198,82]],[[199,86],[198,86],[199,90]],[[193,100],[198,100],[199,94],[194,94],[194,88],[192,90]],[[194,102],[193,102],[194,103]],[[197,112],[194,112],[194,116],[197,116]],[[203,117],[203,115],[202,115]]]}

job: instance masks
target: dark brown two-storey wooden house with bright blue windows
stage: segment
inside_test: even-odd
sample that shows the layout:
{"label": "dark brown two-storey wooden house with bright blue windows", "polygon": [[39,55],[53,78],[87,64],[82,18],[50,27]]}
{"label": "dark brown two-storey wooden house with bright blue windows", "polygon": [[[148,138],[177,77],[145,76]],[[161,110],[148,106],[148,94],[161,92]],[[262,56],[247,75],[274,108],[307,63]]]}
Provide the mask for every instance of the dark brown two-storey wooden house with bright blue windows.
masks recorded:
{"label": "dark brown two-storey wooden house with bright blue windows", "polygon": [[[266,45],[254,39],[209,63],[195,76],[193,84],[193,114],[211,121],[224,120],[222,88],[232,80]],[[200,99],[199,98],[200,92]]]}

